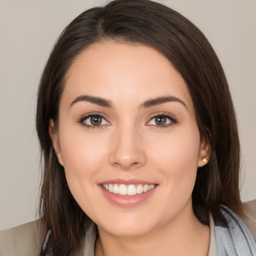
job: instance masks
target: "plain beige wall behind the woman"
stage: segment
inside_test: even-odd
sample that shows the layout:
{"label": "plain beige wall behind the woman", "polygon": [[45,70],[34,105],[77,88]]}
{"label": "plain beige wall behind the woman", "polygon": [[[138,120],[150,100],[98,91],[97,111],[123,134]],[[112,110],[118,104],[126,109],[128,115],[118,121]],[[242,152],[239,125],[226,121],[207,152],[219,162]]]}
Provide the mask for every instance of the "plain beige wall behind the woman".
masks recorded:
{"label": "plain beige wall behind the woman", "polygon": [[[39,183],[36,88],[61,30],[100,0],[0,0],[0,229],[33,220]],[[194,22],[226,72],[243,152],[243,200],[256,198],[256,0],[159,0]]]}

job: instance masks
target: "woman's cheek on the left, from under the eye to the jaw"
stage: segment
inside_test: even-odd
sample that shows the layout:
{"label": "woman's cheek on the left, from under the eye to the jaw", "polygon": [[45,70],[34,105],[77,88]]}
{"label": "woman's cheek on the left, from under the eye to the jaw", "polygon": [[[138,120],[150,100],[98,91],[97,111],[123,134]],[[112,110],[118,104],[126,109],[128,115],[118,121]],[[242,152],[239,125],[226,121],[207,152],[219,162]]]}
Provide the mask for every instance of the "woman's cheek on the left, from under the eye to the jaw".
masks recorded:
{"label": "woman's cheek on the left, from under the eye to the jaw", "polygon": [[59,138],[66,181],[82,210],[94,215],[88,205],[93,205],[96,196],[93,189],[97,188],[97,178],[107,162],[107,142],[100,136],[86,135],[83,128],[73,129],[73,132],[68,132],[67,128]]}

